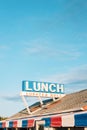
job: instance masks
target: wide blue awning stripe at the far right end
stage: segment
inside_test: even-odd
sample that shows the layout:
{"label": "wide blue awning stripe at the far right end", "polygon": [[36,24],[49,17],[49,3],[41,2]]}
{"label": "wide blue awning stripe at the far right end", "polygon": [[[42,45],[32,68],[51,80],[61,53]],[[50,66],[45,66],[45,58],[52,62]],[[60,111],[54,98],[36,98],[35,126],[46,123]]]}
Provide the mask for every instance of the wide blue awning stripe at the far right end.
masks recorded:
{"label": "wide blue awning stripe at the far right end", "polygon": [[87,126],[87,113],[75,115],[75,126]]}

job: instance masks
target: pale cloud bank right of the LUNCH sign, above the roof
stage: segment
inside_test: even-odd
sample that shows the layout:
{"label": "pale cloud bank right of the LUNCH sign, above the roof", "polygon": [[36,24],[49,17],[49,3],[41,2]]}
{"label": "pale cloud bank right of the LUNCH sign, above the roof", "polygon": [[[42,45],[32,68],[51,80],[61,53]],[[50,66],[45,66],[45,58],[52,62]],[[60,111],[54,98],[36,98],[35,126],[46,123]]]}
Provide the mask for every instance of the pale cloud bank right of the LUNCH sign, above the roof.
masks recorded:
{"label": "pale cloud bank right of the LUNCH sign, above the roof", "polygon": [[45,81],[64,84],[67,92],[87,89],[87,65],[79,66],[67,73],[46,77]]}

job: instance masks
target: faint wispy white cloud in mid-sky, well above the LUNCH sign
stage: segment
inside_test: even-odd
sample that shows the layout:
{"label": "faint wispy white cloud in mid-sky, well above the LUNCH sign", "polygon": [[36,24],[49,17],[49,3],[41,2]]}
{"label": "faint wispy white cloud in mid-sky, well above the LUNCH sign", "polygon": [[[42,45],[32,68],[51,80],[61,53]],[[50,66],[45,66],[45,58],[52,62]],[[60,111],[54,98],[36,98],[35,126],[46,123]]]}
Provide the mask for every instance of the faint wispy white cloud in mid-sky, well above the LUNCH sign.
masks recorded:
{"label": "faint wispy white cloud in mid-sky, well above the LUNCH sign", "polygon": [[60,44],[58,44],[55,47],[42,40],[32,41],[31,43],[32,44],[25,46],[24,52],[26,55],[54,57],[60,60],[77,59],[81,56],[79,50],[74,46],[71,47],[66,45],[62,47]]}

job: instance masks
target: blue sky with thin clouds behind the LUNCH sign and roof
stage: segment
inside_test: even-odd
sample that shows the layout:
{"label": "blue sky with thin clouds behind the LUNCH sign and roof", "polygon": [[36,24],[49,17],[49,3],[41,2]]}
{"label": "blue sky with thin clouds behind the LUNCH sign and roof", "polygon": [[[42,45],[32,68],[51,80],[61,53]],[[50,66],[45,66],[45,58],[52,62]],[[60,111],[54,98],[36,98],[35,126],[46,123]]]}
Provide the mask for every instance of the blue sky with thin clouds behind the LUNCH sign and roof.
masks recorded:
{"label": "blue sky with thin clouds behind the LUNCH sign and roof", "polygon": [[87,0],[0,1],[1,116],[24,109],[22,80],[87,89]]}

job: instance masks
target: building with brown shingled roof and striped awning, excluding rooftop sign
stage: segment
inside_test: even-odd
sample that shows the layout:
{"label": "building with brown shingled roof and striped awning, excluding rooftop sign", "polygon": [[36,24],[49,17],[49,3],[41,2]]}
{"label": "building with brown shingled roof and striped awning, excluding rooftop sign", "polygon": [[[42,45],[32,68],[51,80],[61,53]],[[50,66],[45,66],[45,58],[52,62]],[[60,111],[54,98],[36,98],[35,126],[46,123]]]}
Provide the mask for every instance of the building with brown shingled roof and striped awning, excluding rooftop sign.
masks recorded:
{"label": "building with brown shingled roof and striped awning, excluding rooftop sign", "polygon": [[87,130],[87,89],[62,98],[36,102],[0,122],[7,130]]}

